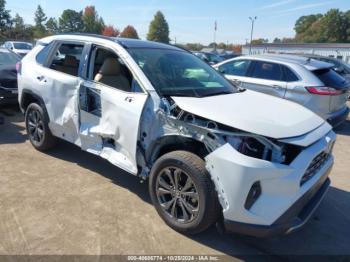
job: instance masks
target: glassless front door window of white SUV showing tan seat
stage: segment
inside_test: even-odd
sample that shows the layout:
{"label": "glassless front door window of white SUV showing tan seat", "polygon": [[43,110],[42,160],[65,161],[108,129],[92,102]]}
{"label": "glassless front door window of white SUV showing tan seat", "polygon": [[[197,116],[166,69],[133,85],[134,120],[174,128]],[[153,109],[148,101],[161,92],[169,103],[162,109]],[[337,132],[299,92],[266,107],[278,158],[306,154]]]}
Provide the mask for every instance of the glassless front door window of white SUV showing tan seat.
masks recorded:
{"label": "glassless front door window of white SUV showing tan seat", "polygon": [[142,92],[142,88],[118,55],[103,47],[92,48],[88,79],[126,91]]}

